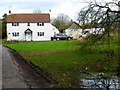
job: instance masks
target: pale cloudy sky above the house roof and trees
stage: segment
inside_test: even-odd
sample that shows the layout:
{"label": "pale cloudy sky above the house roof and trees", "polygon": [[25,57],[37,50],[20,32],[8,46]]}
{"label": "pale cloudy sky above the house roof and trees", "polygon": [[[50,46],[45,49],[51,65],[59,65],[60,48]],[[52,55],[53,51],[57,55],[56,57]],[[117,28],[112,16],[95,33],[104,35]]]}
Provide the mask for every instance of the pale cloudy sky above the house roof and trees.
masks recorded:
{"label": "pale cloudy sky above the house roof and trees", "polygon": [[[89,2],[91,0],[86,0]],[[97,0],[98,2],[112,0]],[[0,18],[4,13],[8,14],[9,9],[12,13],[33,13],[40,9],[42,13],[49,13],[51,17],[56,17],[59,13],[68,15],[76,20],[77,13],[81,8],[87,7],[84,0],[0,0]]]}

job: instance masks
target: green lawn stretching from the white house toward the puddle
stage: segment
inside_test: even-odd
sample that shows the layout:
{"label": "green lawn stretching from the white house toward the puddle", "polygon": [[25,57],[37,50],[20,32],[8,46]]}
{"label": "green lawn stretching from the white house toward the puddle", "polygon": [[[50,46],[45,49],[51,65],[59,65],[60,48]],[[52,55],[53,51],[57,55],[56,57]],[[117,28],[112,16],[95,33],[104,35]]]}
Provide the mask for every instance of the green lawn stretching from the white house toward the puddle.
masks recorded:
{"label": "green lawn stretching from the white house toward the puddle", "polygon": [[48,41],[7,44],[25,60],[46,70],[61,87],[79,87],[81,72],[114,72],[116,70],[117,44],[111,49],[116,52],[107,58],[106,44],[80,50],[79,41]]}

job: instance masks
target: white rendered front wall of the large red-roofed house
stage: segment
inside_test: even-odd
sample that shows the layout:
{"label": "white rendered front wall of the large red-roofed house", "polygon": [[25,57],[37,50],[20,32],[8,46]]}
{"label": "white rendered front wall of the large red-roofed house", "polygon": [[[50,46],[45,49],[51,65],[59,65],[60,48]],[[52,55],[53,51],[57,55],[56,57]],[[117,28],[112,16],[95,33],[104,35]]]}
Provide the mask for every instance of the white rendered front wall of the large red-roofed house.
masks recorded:
{"label": "white rendered front wall of the large red-roofed house", "polygon": [[[44,23],[44,26],[37,26],[37,23],[19,23],[19,26],[12,26],[12,23],[7,23],[7,41],[19,40],[25,41],[25,31],[29,28],[32,33],[33,41],[46,41],[51,40],[54,33],[59,33],[59,31],[50,23]],[[18,37],[12,35],[13,32],[19,32]],[[44,32],[44,36],[38,36],[37,32]]]}

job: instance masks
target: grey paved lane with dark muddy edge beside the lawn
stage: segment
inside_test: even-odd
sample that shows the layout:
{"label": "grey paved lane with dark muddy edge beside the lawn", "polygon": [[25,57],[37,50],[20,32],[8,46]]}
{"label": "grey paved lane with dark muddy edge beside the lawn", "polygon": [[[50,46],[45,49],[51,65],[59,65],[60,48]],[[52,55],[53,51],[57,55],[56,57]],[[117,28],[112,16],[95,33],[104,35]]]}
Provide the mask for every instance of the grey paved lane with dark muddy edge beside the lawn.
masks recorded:
{"label": "grey paved lane with dark muddy edge beside the lawn", "polygon": [[2,88],[50,87],[52,85],[35,72],[32,67],[11,53],[10,49],[2,47]]}

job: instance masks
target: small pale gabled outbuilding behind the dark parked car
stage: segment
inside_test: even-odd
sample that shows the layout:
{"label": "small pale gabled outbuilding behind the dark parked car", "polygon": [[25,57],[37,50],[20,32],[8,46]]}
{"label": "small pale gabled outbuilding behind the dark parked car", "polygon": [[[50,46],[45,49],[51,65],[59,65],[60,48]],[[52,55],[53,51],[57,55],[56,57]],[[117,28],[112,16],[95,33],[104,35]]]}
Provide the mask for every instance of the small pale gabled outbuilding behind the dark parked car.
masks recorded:
{"label": "small pale gabled outbuilding behind the dark parked car", "polygon": [[82,33],[82,27],[76,22],[70,22],[66,27],[64,32],[68,36],[72,36],[73,39],[78,39]]}

